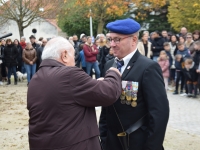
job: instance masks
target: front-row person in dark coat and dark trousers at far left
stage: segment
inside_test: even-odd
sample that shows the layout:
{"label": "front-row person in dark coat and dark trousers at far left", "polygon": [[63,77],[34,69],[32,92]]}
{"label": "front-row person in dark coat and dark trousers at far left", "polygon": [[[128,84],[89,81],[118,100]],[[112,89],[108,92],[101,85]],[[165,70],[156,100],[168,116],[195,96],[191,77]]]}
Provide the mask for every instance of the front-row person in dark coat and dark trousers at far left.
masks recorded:
{"label": "front-row person in dark coat and dark trousers at far left", "polygon": [[8,82],[7,85],[11,84],[11,75],[13,73],[14,75],[14,84],[17,85],[17,74],[16,74],[16,68],[17,68],[17,57],[18,57],[18,50],[17,47],[12,44],[11,39],[6,40],[6,47],[4,49],[4,58],[5,58],[5,64],[8,68]]}

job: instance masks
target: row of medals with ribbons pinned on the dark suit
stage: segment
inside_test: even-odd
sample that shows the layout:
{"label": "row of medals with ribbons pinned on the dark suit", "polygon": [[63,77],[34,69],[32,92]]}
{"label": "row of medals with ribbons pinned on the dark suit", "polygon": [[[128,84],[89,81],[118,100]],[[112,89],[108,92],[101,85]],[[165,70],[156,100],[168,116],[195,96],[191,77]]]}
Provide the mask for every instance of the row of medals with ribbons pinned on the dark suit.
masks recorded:
{"label": "row of medals with ribbons pinned on the dark suit", "polygon": [[137,106],[138,82],[122,81],[121,103]]}

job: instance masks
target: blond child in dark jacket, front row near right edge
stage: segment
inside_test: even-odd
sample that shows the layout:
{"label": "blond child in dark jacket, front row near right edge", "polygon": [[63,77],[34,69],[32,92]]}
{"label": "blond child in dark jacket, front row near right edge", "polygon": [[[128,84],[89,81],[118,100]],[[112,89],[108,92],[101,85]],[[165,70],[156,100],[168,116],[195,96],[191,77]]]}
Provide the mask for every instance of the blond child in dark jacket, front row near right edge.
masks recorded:
{"label": "blond child in dark jacket, front row near right edge", "polygon": [[[186,85],[188,88],[187,97],[197,97],[197,86],[198,86],[198,74],[196,72],[195,63],[192,58],[186,58],[184,62]],[[194,95],[192,94],[194,89]]]}

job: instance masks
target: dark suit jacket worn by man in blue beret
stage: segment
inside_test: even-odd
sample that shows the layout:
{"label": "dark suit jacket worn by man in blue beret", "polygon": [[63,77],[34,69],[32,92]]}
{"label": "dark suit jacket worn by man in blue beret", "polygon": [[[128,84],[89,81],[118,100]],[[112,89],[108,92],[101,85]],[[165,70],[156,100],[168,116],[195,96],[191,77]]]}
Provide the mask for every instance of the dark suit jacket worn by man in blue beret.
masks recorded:
{"label": "dark suit jacket worn by man in blue beret", "polygon": [[[109,61],[109,69],[114,60]],[[148,114],[145,124],[129,135],[129,150],[162,150],[169,117],[169,104],[158,63],[141,55],[138,51],[129,61],[122,80],[139,83],[137,107],[114,103],[124,130]],[[103,107],[100,122],[100,137],[104,150],[122,150],[117,134],[123,132],[113,106]]]}

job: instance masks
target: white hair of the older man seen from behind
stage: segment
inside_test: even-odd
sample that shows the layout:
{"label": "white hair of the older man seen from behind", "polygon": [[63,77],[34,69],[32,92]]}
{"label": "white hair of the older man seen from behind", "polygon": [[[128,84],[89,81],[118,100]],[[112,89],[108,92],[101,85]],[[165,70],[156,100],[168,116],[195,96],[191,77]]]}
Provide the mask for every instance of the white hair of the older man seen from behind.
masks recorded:
{"label": "white hair of the older man seen from behind", "polygon": [[42,53],[42,60],[58,59],[63,50],[66,50],[71,56],[74,55],[74,48],[67,39],[63,37],[53,38],[45,46]]}

